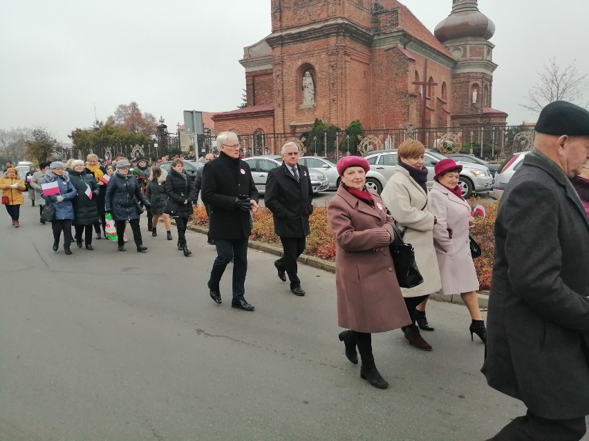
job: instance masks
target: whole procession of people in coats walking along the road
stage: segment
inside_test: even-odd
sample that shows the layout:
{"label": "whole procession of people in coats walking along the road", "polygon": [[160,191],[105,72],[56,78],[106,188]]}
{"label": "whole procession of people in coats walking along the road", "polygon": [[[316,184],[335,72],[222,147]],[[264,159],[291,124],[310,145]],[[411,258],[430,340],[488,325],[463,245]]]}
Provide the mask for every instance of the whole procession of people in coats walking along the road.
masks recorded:
{"label": "whole procession of people in coats walking along the road", "polygon": [[[117,158],[114,173],[93,155],[86,164],[39,164],[39,171],[31,170],[29,185],[33,200],[45,201],[41,213],[46,206],[55,212],[53,249],[63,231],[64,250],[71,254],[73,224],[77,246],[85,242],[92,250],[93,226],[104,228],[104,216],[111,215],[118,250],[125,251],[129,224],[137,251],[146,251],[139,228],[144,206],[153,237],[162,217],[171,240],[170,217],[176,219],[178,250],[189,256],[185,231],[200,192],[209,214],[209,243],[217,253],[209,295],[222,304],[221,278],[233,262],[231,306],[254,311],[245,300],[245,277],[259,193],[240,157],[238,136],[223,132],[216,143],[219,155],[205,159],[196,184],[180,158],[169,173],[157,165],[148,168],[147,160],[138,158],[144,185],[129,173],[131,163],[124,157]],[[385,389],[389,383],[376,367],[372,334],[401,329],[408,344],[431,351],[420,333],[434,330],[425,312],[427,300],[433,293],[459,294],[471,318],[471,340],[477,335],[485,347],[482,371],[489,386],[527,406],[525,416],[514,418],[492,440],[579,440],[589,414],[589,112],[564,101],[541,112],[534,148],[499,204],[488,329],[469,245],[469,229],[476,222],[458,186],[462,166],[453,159],[439,161],[430,189],[424,152],[413,139],[399,146],[398,165],[382,195],[366,188],[366,159],[346,156],[337,162],[341,184],[327,215],[336,246],[337,320],[344,328],[338,337],[346,358],[361,362],[362,379]],[[283,164],[268,173],[264,202],[283,246],[274,262],[277,275],[302,297],[306,291],[297,259],[310,234],[313,193],[300,153],[294,142],[282,147]],[[0,188],[18,227],[26,184],[15,171],[8,168]],[[422,277],[416,286],[400,286],[393,253],[401,241],[413,246]]]}

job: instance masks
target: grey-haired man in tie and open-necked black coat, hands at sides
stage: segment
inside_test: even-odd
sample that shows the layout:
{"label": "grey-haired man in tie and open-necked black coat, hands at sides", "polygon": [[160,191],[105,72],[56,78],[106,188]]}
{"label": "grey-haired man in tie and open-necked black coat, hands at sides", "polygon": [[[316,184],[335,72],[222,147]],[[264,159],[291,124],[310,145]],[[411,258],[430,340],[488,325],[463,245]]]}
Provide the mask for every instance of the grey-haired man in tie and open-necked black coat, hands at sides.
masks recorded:
{"label": "grey-haired man in tie and open-necked black coat, hands at sides", "polygon": [[288,274],[292,293],[305,295],[297,274],[297,259],[305,251],[305,238],[310,233],[313,188],[308,168],[298,164],[299,146],[288,142],[281,153],[282,166],[268,173],[264,195],[265,206],[274,218],[274,233],[280,237],[283,249],[283,257],[274,266],[283,282]]}

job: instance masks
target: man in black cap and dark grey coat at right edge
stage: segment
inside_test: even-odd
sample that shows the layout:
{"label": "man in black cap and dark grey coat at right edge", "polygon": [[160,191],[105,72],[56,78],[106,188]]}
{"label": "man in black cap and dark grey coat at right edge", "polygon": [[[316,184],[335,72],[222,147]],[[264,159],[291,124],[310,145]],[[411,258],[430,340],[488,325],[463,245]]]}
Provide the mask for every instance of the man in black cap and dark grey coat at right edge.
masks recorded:
{"label": "man in black cap and dark grey coat at right edge", "polygon": [[501,198],[482,371],[527,414],[492,440],[573,441],[586,432],[589,221],[569,179],[588,158],[589,112],[548,104]]}

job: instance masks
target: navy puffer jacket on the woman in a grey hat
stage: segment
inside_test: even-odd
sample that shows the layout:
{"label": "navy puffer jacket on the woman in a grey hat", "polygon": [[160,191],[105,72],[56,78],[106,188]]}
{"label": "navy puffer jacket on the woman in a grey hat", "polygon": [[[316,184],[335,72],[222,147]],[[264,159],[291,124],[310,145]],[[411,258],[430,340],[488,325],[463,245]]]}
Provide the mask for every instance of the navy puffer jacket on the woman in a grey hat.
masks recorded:
{"label": "navy puffer jacket on the woman in a grey hat", "polygon": [[106,185],[106,194],[104,195],[106,211],[110,211],[115,220],[139,219],[133,195],[138,202],[149,206],[149,201],[142,195],[137,179],[131,173],[123,175],[118,170],[115,171],[109,184]]}

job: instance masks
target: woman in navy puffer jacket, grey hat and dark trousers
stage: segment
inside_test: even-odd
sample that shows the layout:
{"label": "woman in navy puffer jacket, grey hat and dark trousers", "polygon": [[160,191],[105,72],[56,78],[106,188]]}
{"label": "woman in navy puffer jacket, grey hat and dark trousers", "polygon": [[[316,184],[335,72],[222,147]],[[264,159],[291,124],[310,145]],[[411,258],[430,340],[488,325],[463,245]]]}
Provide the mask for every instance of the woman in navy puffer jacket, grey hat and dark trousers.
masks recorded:
{"label": "woman in navy puffer jacket, grey hat and dark trousers", "polygon": [[135,246],[137,246],[138,253],[141,253],[147,250],[147,246],[143,246],[139,228],[140,213],[135,200],[146,207],[149,206],[149,201],[141,194],[137,179],[132,173],[129,173],[129,168],[131,168],[131,163],[127,159],[117,162],[117,170],[109,180],[109,184],[106,185],[104,204],[106,204],[106,213],[110,212],[115,220],[119,251],[125,251],[123,235],[126,222],[129,222]]}

